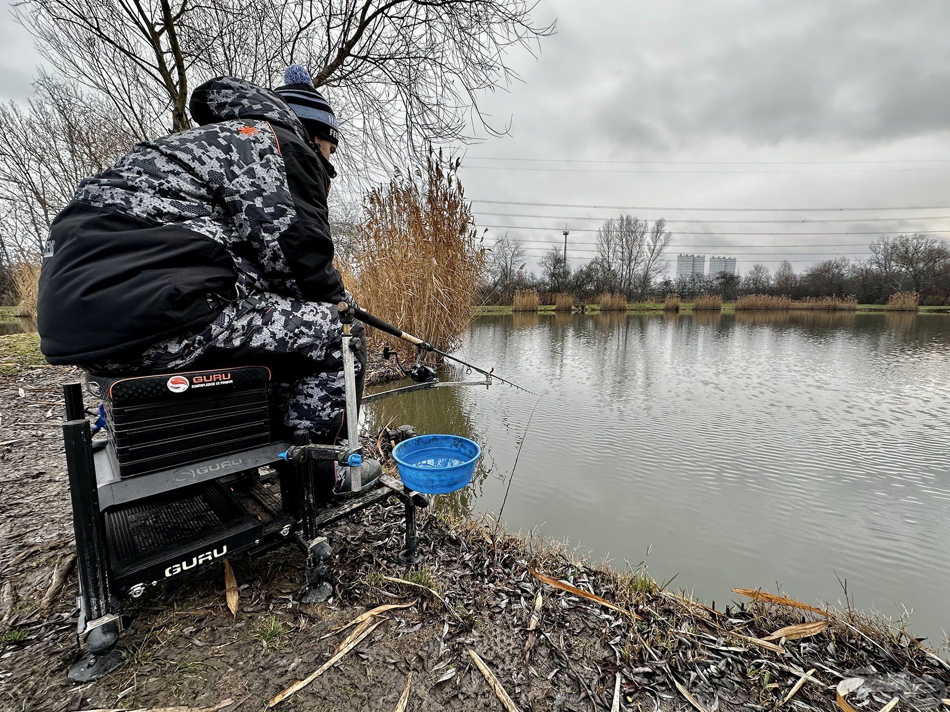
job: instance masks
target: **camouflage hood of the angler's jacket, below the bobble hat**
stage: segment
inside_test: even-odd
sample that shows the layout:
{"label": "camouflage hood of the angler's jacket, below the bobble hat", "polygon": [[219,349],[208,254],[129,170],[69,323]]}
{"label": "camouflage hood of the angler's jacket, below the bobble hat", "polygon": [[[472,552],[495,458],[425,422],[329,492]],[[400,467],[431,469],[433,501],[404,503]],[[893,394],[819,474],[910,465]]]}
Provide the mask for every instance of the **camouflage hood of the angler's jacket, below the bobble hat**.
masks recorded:
{"label": "camouflage hood of the angler's jacket, below the bobble hat", "polygon": [[201,125],[260,119],[280,124],[310,141],[303,124],[276,92],[237,77],[216,77],[201,84],[192,92],[188,107],[192,118]]}

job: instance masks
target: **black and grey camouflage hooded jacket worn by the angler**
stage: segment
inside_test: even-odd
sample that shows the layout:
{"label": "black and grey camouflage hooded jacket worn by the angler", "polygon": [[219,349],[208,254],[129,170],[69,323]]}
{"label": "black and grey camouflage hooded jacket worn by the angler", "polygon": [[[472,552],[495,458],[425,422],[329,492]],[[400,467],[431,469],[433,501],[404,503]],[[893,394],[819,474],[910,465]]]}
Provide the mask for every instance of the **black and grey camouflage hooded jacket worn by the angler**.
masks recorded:
{"label": "black and grey camouflage hooded jacket worn by the angler", "polygon": [[233,77],[201,84],[190,107],[198,128],[137,144],[53,221],[37,309],[50,363],[142,353],[253,291],[343,298],[333,166],[290,107]]}

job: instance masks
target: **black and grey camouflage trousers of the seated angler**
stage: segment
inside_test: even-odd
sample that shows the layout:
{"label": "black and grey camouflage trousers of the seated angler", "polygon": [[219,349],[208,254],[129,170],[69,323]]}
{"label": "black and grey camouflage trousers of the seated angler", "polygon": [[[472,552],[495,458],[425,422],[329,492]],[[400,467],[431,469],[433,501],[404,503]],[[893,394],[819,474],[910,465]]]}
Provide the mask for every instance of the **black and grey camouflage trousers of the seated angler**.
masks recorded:
{"label": "black and grey camouflage trousers of the seated angler", "polygon": [[[363,332],[362,325],[353,325],[361,341]],[[134,363],[109,364],[103,370],[266,365],[272,371],[271,407],[282,413],[284,424],[335,441],[346,407],[341,342],[335,305],[264,292],[228,304],[199,332],[166,339]],[[357,377],[363,363],[365,347],[357,353]]]}

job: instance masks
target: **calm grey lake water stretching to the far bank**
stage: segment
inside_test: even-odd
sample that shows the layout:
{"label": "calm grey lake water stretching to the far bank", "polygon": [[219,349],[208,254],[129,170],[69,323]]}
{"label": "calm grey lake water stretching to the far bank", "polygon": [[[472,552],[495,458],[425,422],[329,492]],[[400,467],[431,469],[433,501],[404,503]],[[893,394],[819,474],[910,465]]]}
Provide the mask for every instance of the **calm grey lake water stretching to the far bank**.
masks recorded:
{"label": "calm grey lake water stretching to the far bank", "polygon": [[482,444],[443,506],[615,565],[649,550],[720,608],[733,587],[834,603],[840,579],[934,644],[950,630],[950,316],[484,316],[459,355],[543,397],[526,436],[536,399],[497,382],[369,407]]}

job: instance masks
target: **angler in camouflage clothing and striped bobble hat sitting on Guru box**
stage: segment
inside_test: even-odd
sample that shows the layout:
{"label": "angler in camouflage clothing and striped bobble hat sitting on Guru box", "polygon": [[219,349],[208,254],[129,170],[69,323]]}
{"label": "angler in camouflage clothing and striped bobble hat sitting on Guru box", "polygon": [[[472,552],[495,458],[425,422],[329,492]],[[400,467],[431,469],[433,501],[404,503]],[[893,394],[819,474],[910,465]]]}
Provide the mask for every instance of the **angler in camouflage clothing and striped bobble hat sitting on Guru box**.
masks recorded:
{"label": "angler in camouflage clothing and striped bobble hat sitting on Guru box", "polygon": [[[49,363],[106,375],[266,365],[288,432],[345,432],[336,304],[353,303],[327,208],[339,127],[306,69],[288,67],[284,82],[201,84],[189,104],[198,128],[142,141],[80,183],[40,276]],[[349,468],[321,464],[328,495],[346,489]]]}

